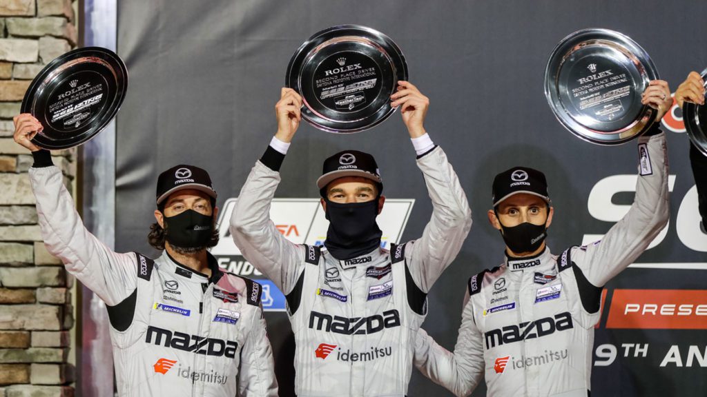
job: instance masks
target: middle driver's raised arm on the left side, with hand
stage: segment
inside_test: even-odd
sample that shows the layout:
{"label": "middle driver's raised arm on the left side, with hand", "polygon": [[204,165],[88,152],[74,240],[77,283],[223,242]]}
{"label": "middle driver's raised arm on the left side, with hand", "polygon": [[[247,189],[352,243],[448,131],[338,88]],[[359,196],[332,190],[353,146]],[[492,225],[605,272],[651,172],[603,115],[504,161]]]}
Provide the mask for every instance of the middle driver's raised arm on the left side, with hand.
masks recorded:
{"label": "middle driver's raised arm on the left side, with hand", "polygon": [[275,106],[278,132],[240,189],[230,232],[245,259],[285,294],[297,282],[304,249],[286,239],[270,220],[270,204],[280,183],[280,167],[300,120],[300,96],[283,88]]}

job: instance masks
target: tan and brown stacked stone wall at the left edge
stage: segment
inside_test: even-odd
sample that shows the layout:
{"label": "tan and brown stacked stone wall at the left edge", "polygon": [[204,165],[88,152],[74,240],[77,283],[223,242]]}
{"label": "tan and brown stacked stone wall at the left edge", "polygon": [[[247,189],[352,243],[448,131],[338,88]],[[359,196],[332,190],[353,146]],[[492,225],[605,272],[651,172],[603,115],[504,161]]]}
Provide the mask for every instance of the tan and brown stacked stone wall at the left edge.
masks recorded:
{"label": "tan and brown stacked stone wall at the left edge", "polygon": [[[73,278],[42,243],[12,117],[42,67],[76,47],[71,0],[0,0],[0,397],[73,396]],[[53,152],[74,191],[76,151]],[[73,352],[71,352],[73,354]]]}

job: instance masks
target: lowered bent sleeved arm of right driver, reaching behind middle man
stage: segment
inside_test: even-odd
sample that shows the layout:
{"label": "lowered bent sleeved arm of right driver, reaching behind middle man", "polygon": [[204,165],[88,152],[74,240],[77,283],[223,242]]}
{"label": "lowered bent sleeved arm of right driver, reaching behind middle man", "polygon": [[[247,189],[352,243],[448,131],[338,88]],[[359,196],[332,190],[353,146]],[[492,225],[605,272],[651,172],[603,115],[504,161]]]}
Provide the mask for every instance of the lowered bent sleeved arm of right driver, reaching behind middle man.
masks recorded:
{"label": "lowered bent sleeved arm of right driver, reaching behind middle man", "polygon": [[464,298],[462,325],[454,352],[438,345],[425,330],[419,329],[415,343],[414,364],[423,375],[451,391],[468,396],[484,378],[484,346],[481,332],[474,323],[469,292]]}

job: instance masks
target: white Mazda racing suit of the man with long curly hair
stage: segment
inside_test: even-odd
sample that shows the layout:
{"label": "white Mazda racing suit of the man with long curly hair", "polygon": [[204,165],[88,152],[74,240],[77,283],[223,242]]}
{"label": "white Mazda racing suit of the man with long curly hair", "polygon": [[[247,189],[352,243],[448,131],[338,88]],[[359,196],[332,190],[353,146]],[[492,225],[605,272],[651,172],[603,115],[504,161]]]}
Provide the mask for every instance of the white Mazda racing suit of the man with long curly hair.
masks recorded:
{"label": "white Mazda racing suit of the man with long curly hair", "polygon": [[108,307],[119,396],[276,396],[260,285],[118,254],[81,223],[57,167],[30,168],[42,237]]}

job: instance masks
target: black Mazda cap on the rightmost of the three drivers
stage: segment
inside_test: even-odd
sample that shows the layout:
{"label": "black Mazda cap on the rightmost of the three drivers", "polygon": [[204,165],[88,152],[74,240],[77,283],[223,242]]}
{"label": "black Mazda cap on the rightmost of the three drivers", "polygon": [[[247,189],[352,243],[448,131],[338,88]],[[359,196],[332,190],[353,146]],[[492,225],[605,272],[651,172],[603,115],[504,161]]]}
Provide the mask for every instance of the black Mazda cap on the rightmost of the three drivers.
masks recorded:
{"label": "black Mazda cap on the rightmost of the three drivers", "polygon": [[518,193],[533,194],[551,203],[545,174],[529,167],[513,167],[493,178],[493,206]]}

